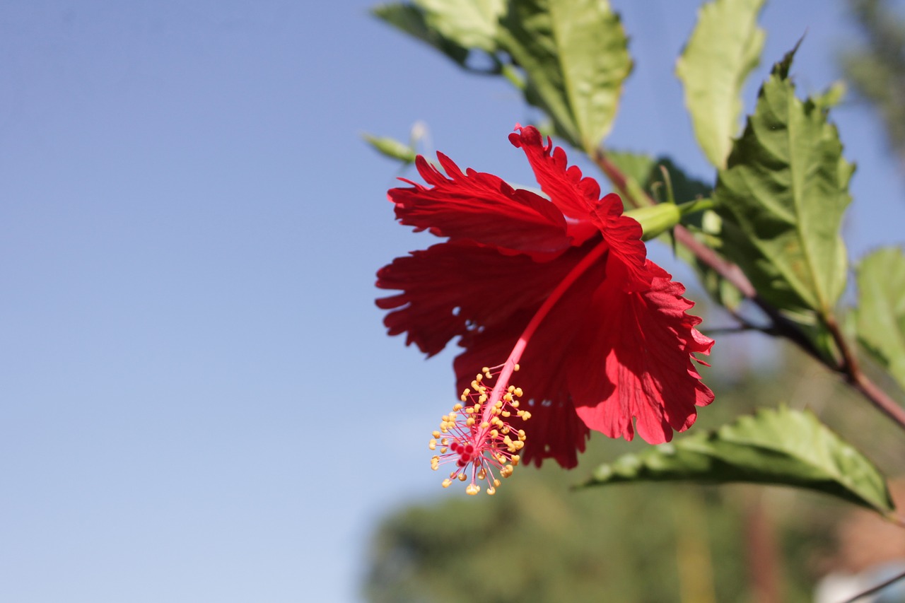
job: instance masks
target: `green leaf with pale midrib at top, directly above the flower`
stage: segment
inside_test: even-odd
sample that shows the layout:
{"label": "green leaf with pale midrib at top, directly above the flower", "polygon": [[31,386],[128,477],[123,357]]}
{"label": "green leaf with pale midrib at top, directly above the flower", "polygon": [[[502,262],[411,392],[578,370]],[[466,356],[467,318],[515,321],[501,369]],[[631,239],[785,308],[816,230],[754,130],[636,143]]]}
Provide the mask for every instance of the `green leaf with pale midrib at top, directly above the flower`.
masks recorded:
{"label": "green leaf with pale midrib at top, directly above the flower", "polygon": [[606,0],[512,0],[501,24],[500,46],[525,72],[526,100],[560,137],[593,152],[632,71],[619,16]]}

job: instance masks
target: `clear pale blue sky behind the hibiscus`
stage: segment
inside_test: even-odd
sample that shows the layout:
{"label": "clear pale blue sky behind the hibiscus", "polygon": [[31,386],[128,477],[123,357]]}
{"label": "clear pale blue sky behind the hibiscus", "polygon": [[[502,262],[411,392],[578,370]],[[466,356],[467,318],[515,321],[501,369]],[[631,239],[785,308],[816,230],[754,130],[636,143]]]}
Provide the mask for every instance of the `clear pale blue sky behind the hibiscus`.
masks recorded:
{"label": "clear pale blue sky behind the hibiscus", "polygon": [[[431,237],[358,137],[423,120],[531,184],[506,137],[536,114],[372,4],[0,5],[0,600],[356,601],[380,515],[457,495],[426,449],[452,355],[388,339],[373,303]],[[710,178],[672,75],[698,3],[613,4],[636,67],[608,144]],[[837,78],[848,20],[769,5],[748,109],[805,31],[801,89]],[[834,116],[857,257],[901,241],[905,187],[869,114]]]}

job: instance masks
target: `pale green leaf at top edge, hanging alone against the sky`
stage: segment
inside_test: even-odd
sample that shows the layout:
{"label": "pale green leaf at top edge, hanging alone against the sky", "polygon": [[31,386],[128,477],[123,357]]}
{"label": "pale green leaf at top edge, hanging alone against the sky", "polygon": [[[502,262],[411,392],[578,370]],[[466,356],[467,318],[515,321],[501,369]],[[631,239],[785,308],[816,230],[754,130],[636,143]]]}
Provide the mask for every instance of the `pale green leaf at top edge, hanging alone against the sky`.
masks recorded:
{"label": "pale green leaf at top edge, hanging alone against the sky", "polygon": [[738,132],[741,89],[760,62],[766,34],[757,27],[764,0],[716,0],[700,7],[698,24],[676,63],[685,105],[704,154],[726,167]]}

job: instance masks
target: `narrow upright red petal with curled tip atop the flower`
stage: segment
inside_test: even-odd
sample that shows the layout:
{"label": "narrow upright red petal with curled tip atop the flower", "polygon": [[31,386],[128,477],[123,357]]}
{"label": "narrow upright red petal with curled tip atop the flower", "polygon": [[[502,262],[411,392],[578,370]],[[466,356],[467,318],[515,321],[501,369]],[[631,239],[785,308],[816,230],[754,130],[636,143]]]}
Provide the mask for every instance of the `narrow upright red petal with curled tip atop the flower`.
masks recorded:
{"label": "narrow upright red petal with curled tip atop the flower", "polygon": [[591,209],[600,196],[600,185],[594,178],[583,178],[576,166],[569,168],[566,151],[553,148],[549,140],[545,145],[537,128],[517,126],[516,130],[510,134],[510,142],[525,151],[541,190],[564,215],[572,218],[569,234],[576,244],[584,243],[595,234],[595,227],[589,221]]}

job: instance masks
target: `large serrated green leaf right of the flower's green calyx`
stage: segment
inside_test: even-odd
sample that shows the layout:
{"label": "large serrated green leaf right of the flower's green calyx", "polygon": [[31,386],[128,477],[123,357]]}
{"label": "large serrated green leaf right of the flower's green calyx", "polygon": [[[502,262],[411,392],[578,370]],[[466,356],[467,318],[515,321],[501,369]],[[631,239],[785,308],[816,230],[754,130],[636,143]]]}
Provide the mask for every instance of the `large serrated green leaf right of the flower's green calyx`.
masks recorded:
{"label": "large serrated green leaf right of the flower's green calyx", "polygon": [[826,112],[795,98],[793,53],[773,69],[757,109],[719,170],[714,201],[727,227],[723,253],[779,310],[833,315],[845,288],[840,236],[851,166]]}

